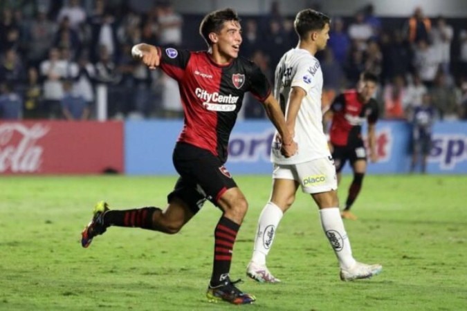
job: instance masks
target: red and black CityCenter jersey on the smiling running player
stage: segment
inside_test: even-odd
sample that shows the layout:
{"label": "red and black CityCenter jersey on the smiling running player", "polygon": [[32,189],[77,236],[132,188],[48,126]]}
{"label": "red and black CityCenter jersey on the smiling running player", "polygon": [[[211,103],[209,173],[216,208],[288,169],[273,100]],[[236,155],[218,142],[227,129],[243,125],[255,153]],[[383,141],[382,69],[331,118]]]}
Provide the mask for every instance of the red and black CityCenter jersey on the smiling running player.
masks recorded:
{"label": "red and black CityCenter jersey on the smiling running player", "polygon": [[185,120],[178,142],[208,149],[223,162],[228,140],[246,92],[260,102],[271,84],[258,66],[244,58],[221,66],[206,51],[161,48],[161,69],[176,79]]}

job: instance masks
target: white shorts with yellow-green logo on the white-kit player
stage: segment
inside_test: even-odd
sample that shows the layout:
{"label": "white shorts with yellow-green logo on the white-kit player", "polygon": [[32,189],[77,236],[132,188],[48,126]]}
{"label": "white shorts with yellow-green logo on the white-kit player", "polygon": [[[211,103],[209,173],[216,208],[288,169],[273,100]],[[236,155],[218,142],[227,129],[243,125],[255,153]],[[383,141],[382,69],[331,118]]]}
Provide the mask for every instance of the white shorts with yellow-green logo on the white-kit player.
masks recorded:
{"label": "white shorts with yellow-green logo on the white-kit player", "polygon": [[331,157],[299,164],[274,164],[273,179],[295,180],[306,194],[337,189],[336,167]]}

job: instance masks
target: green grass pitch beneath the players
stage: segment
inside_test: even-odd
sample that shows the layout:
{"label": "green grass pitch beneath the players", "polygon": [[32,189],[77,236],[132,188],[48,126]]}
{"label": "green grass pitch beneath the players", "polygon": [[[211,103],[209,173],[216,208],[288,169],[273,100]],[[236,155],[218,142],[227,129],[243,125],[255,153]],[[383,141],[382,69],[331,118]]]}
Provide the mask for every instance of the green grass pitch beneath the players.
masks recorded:
{"label": "green grass pitch beneath the players", "polygon": [[[340,199],[349,183],[345,176]],[[346,220],[354,256],[381,263],[370,280],[340,281],[318,210],[299,194],[277,230],[268,266],[282,279],[245,278],[269,176],[237,176],[250,202],[232,279],[253,305],[208,303],[210,203],[179,234],[112,227],[89,249],[80,232],[94,203],[165,206],[174,177],[0,177],[0,310],[467,310],[467,176],[368,176]]]}

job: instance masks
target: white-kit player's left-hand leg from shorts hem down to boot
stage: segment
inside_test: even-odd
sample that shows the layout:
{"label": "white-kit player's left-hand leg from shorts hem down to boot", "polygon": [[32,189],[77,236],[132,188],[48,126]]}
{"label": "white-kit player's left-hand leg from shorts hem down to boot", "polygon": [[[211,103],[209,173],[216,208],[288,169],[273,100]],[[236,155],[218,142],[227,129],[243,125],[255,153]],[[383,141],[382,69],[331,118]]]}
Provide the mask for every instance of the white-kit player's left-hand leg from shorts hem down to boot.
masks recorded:
{"label": "white-kit player's left-hand leg from shorts hem down to boot", "polygon": [[259,283],[280,282],[280,279],[275,278],[266,267],[266,256],[273,246],[275,232],[282,216],[295,200],[297,188],[298,183],[295,180],[273,180],[273,193],[259,216],[253,256],[246,268],[246,275],[250,279]]}

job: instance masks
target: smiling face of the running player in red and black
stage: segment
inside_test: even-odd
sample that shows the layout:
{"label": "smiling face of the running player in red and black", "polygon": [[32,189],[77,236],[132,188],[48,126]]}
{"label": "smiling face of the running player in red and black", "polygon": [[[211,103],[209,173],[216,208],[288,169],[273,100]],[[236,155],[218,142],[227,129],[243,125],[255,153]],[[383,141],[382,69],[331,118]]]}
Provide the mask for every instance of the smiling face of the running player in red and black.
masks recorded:
{"label": "smiling face of the running player in red and black", "polygon": [[221,56],[229,61],[239,56],[241,44],[241,26],[238,21],[226,21],[217,34],[217,45]]}

